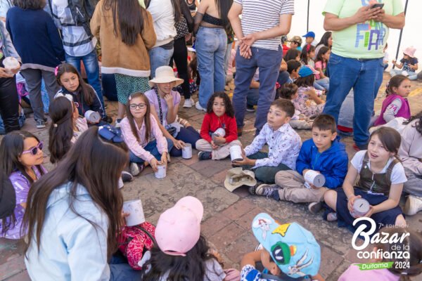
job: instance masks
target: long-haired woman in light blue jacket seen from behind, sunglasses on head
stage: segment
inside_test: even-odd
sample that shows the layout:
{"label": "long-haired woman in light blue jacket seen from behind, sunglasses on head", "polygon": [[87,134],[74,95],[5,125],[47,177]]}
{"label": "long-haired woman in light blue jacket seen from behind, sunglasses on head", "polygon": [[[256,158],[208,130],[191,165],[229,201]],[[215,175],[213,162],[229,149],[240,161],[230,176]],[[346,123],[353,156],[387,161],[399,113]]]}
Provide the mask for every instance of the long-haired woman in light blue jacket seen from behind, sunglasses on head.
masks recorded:
{"label": "long-haired woman in light blue jacket seen from behind, sunglasses on head", "polygon": [[139,280],[128,264],[108,264],[122,226],[118,181],[128,161],[117,130],[93,126],[34,183],[23,221],[32,280]]}

